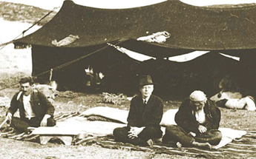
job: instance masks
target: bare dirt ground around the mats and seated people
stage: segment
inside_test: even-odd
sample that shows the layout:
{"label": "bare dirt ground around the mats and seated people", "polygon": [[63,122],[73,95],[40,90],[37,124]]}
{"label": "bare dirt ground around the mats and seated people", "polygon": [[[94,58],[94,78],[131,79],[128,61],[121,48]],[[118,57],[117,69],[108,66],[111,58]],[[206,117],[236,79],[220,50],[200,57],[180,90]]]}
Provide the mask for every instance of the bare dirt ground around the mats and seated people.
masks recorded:
{"label": "bare dirt ground around the mats and seated people", "polygon": [[[11,98],[16,89],[4,89],[1,95]],[[102,94],[73,93],[75,98],[58,97],[55,101],[56,113],[59,112],[83,112],[94,106],[111,106],[119,109],[129,109],[128,100],[121,104],[102,103]],[[177,108],[181,101],[164,101],[164,112]],[[1,106],[0,120],[4,120],[7,107]],[[221,109],[222,120],[220,127],[232,129],[254,130],[255,112],[235,109]],[[125,149],[105,149],[101,146],[65,146],[63,143],[47,143],[41,145],[29,141],[15,141],[13,139],[0,138],[1,158],[188,158],[180,155],[154,154],[154,152],[128,151]]]}

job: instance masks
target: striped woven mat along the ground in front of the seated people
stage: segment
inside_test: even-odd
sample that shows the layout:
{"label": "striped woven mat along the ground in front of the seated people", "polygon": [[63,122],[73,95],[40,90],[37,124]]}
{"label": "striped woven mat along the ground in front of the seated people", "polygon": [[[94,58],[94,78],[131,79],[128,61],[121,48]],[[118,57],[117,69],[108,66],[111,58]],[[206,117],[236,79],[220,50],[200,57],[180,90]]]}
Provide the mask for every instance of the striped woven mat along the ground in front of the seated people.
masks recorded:
{"label": "striped woven mat along the ground in front of the seated people", "polygon": [[256,158],[256,131],[249,131],[242,138],[235,139],[220,149],[176,148],[167,147],[163,143],[156,143],[153,147],[134,146],[130,143],[115,142],[113,136],[88,136],[74,144],[88,145],[96,143],[108,149],[126,149],[143,152],[165,153],[168,155],[183,155],[194,158]]}

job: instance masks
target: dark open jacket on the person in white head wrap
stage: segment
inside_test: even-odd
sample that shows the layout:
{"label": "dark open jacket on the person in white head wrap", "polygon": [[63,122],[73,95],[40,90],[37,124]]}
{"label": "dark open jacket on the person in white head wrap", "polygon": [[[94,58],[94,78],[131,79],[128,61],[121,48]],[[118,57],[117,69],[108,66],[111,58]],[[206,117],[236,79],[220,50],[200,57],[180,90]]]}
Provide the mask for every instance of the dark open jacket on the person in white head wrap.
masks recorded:
{"label": "dark open jacket on the person in white head wrap", "polygon": [[[206,122],[202,125],[206,126],[208,130],[218,129],[220,126],[220,109],[214,105],[213,101],[208,99],[203,110],[206,113]],[[175,115],[175,121],[186,132],[200,133],[198,130],[200,124],[196,121],[192,111],[190,100],[187,98],[180,105],[179,111]]]}

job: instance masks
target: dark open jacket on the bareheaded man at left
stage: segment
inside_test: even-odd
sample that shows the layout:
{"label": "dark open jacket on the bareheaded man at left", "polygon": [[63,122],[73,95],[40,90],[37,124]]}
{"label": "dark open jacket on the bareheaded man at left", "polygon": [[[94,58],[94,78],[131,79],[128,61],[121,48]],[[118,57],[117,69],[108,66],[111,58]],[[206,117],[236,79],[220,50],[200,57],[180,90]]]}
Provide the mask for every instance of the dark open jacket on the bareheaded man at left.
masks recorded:
{"label": "dark open jacket on the bareheaded man at left", "polygon": [[[18,95],[19,95],[19,92],[17,92],[13,96],[13,99],[10,102],[10,108],[8,109],[7,112],[14,114],[17,111],[17,109],[19,109],[20,118],[24,119],[25,114],[24,114],[24,106],[22,102],[23,95],[21,95],[20,98],[17,99]],[[45,114],[51,115],[53,117],[54,106],[50,104],[50,101],[47,100],[47,98],[42,92],[33,91],[30,97],[30,104],[33,109],[33,112],[36,115],[36,118],[39,118],[39,120],[42,120]]]}

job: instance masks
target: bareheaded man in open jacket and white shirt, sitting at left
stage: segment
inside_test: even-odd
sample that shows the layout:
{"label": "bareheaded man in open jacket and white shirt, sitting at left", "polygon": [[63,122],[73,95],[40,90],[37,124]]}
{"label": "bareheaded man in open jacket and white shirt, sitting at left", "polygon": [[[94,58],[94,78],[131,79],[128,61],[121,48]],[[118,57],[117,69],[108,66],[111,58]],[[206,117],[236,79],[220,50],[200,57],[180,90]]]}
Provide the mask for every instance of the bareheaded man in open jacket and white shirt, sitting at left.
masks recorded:
{"label": "bareheaded man in open jacket and white shirt, sitting at left", "polygon": [[[6,118],[18,132],[27,132],[27,127],[55,126],[53,119],[54,106],[45,95],[33,89],[33,79],[21,78],[20,92],[17,92],[10,102]],[[13,117],[19,109],[20,118]]]}

